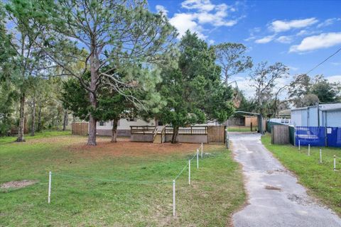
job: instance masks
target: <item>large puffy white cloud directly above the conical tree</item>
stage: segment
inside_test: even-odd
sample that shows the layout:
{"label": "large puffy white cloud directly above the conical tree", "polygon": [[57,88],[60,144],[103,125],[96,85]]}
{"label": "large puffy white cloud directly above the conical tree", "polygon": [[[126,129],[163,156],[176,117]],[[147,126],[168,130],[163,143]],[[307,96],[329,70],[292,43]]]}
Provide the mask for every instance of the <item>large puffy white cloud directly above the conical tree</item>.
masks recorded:
{"label": "large puffy white cloud directly above the conical tree", "polygon": [[[179,36],[185,34],[188,29],[198,34],[200,38],[206,38],[202,32],[205,24],[210,26],[234,26],[237,19],[227,19],[229,12],[236,11],[235,7],[227,4],[212,4],[210,0],[185,0],[181,4],[184,9],[189,11],[186,13],[175,13],[170,18],[170,23],[178,29]],[[180,38],[179,37],[179,38]]]}

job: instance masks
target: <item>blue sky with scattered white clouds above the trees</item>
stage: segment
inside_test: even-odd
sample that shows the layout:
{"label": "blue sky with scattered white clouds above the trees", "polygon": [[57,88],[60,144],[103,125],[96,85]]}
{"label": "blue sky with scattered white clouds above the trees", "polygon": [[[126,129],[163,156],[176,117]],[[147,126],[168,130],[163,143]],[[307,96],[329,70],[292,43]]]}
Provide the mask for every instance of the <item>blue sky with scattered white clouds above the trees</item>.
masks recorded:
{"label": "blue sky with scattered white clouds above the trees", "polygon": [[[214,45],[243,43],[254,64],[282,62],[290,77],[306,73],[341,48],[341,1],[150,0],[151,11],[163,11],[178,29],[188,29]],[[309,73],[341,82],[341,51]],[[238,74],[239,89],[252,96],[249,72]],[[285,95],[285,94],[283,94]]]}

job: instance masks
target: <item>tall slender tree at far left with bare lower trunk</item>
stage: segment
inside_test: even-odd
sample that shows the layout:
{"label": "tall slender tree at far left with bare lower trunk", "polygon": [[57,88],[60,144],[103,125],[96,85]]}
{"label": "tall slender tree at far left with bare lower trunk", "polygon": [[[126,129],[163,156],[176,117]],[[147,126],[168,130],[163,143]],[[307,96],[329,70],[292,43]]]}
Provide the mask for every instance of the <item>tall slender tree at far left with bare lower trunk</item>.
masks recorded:
{"label": "tall slender tree at far left with bare lower trunk", "polygon": [[30,87],[28,80],[30,77],[37,76],[38,65],[43,64],[44,57],[42,57],[42,51],[36,43],[40,42],[39,35],[45,27],[40,23],[40,20],[31,17],[35,8],[28,1],[9,1],[6,10],[7,18],[12,26],[9,45],[11,49],[15,50],[15,55],[12,55],[11,60],[9,60],[13,65],[10,77],[11,82],[15,84],[20,93],[20,121],[17,142],[22,142],[25,141],[23,128],[25,101]]}

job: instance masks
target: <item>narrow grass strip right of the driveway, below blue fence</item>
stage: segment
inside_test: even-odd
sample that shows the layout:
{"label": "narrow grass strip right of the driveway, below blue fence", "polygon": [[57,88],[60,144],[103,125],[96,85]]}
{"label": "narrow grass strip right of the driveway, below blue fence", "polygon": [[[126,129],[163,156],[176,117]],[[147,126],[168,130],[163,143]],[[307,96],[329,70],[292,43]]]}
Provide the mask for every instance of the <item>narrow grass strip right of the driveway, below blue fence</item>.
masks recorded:
{"label": "narrow grass strip right of the driveway, below blue fence", "polygon": [[[292,145],[273,145],[271,135],[261,137],[261,142],[285,165],[295,172],[298,181],[308,188],[308,192],[323,201],[341,216],[341,149],[322,148],[323,163],[320,164],[320,148],[301,146],[301,151]],[[333,157],[337,156],[333,171]]]}

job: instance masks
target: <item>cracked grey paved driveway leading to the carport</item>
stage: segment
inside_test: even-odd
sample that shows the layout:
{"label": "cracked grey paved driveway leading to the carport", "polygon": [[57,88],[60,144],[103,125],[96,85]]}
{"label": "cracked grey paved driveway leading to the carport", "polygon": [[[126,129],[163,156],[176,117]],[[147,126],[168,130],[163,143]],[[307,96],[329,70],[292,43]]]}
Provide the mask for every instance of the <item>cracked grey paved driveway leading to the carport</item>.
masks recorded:
{"label": "cracked grey paved driveway leading to the carport", "polygon": [[264,148],[259,134],[229,133],[242,163],[249,204],[233,215],[235,227],[341,226],[341,219],[306,194],[296,177]]}

